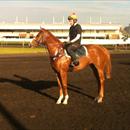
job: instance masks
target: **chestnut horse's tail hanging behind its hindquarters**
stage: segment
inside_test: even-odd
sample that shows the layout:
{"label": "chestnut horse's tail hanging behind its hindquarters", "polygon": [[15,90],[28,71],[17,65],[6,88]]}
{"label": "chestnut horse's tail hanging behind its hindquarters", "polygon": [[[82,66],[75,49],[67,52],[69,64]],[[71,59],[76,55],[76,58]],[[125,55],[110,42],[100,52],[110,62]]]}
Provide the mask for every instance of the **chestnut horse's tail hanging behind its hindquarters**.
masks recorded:
{"label": "chestnut horse's tail hanging behind its hindquarters", "polygon": [[111,65],[111,56],[108,53],[107,54],[107,61],[106,61],[106,78],[110,79],[111,78],[111,69],[112,69],[112,65]]}

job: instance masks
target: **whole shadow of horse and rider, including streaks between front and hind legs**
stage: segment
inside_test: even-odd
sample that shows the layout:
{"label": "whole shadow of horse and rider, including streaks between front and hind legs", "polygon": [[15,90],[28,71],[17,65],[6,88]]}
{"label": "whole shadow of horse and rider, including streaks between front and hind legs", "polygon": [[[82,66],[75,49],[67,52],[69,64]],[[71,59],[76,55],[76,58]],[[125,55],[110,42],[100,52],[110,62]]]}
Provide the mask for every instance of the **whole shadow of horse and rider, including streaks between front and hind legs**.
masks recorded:
{"label": "whole shadow of horse and rider, including streaks between front and hind legs", "polygon": [[[25,78],[25,77],[20,76],[20,75],[14,75],[14,77],[17,78],[18,80],[17,79],[15,80],[15,79],[8,79],[8,78],[0,78],[0,82],[2,82],[2,83],[3,82],[9,82],[9,83],[17,85],[18,87],[34,91],[34,92],[41,94],[45,97],[48,97],[48,98],[50,98],[54,101],[57,100],[57,98],[55,98],[55,97],[53,97],[53,96],[44,92],[44,90],[46,90],[46,89],[50,89],[52,87],[57,87],[58,86],[57,81],[50,81],[50,80],[33,81],[33,80],[30,80],[30,79]],[[94,99],[94,97],[86,94],[85,92],[82,92],[81,88],[79,88],[75,85],[68,84],[68,89],[70,91],[76,92],[80,95],[87,96],[90,99]]]}

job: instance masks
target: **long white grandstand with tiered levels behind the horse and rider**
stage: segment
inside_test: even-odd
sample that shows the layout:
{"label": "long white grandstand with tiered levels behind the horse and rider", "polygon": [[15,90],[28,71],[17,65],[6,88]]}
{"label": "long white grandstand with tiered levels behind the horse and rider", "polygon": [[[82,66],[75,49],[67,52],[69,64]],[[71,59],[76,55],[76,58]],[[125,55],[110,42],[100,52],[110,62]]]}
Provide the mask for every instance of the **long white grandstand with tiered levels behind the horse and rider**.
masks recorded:
{"label": "long white grandstand with tiered levels behind the horse and rider", "polygon": [[[51,31],[57,38],[64,41],[68,36],[67,24],[41,23],[0,23],[0,43],[30,42],[40,30],[40,26]],[[120,44],[123,42],[118,24],[82,24],[82,43],[85,44]],[[114,39],[114,40],[113,40]]]}

